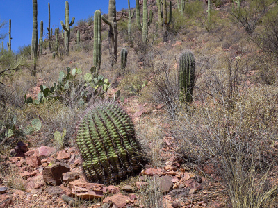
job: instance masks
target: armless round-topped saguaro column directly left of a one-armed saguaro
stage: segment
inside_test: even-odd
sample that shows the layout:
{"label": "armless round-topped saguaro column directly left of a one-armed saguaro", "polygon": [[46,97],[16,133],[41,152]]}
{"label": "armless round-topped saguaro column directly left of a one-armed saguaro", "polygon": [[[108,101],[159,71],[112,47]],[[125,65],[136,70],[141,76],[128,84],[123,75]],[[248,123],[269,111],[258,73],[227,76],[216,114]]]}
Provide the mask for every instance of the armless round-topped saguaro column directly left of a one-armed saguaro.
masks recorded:
{"label": "armless round-topped saguaro column directly left of a one-armed saguaro", "polygon": [[93,51],[93,63],[99,73],[101,64],[101,12],[95,11],[94,14],[94,51]]}

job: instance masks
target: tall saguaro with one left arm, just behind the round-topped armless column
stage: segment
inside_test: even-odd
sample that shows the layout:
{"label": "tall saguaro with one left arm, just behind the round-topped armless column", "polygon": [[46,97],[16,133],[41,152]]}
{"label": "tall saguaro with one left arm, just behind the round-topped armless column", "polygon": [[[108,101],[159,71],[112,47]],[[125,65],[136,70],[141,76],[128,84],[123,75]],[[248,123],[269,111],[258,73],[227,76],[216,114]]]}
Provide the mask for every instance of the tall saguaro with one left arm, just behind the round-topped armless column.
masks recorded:
{"label": "tall saguaro with one left arm, just behind the round-topped armless column", "polygon": [[101,19],[108,24],[108,42],[109,42],[109,53],[110,53],[110,62],[111,66],[117,62],[117,21],[116,21],[116,1],[109,0],[108,7],[108,19],[103,15]]}

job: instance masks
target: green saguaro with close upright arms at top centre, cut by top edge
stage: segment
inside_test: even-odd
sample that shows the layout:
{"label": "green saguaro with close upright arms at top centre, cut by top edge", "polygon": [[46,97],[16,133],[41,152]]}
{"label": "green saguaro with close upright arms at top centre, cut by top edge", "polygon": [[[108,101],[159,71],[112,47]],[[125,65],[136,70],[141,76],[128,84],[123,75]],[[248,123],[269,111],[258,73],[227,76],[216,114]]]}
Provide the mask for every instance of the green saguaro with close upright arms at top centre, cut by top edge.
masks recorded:
{"label": "green saguaro with close upright arms at top centre, cut by top edge", "polygon": [[141,24],[139,0],[136,0],[136,22],[139,31],[142,31],[142,42],[145,44],[148,40],[149,26],[152,23],[152,15],[152,10],[150,10],[148,18],[147,0],[143,0],[143,19]]}

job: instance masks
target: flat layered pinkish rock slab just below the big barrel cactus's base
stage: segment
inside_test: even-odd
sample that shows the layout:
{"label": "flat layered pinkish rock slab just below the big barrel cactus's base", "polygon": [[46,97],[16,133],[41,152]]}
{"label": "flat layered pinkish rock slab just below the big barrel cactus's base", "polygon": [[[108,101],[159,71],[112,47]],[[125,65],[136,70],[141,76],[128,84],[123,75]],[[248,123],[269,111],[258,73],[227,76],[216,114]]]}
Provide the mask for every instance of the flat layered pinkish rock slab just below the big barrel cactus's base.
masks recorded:
{"label": "flat layered pinkish rock slab just below the big barrel cactus's base", "polygon": [[102,198],[105,187],[102,184],[86,182],[70,182],[70,196],[81,198],[83,200],[92,200],[93,198]]}

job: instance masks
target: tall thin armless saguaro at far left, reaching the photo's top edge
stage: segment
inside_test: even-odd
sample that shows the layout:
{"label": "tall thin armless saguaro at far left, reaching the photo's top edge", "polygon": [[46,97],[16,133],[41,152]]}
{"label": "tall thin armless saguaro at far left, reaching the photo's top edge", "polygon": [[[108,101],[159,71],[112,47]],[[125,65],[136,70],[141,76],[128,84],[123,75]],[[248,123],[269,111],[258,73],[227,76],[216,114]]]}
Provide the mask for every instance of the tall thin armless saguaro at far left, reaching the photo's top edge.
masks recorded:
{"label": "tall thin armless saguaro at far left, reaching the photo's top edge", "polygon": [[38,61],[38,4],[37,0],[33,0],[33,33],[31,44],[31,56],[33,59],[32,75],[36,75],[36,65]]}

